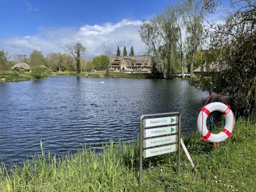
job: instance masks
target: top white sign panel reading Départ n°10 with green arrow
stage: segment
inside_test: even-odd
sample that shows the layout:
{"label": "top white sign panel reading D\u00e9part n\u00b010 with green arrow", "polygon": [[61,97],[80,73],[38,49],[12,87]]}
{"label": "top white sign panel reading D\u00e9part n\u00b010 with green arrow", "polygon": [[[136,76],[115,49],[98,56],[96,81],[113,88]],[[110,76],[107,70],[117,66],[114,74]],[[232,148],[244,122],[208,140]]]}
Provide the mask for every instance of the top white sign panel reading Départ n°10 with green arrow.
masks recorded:
{"label": "top white sign panel reading D\u00e9part n\u00b010 with green arrow", "polygon": [[153,118],[153,119],[145,119],[144,127],[156,127],[161,125],[171,125],[177,124],[177,116],[174,117],[161,117],[161,118]]}

